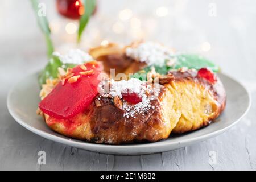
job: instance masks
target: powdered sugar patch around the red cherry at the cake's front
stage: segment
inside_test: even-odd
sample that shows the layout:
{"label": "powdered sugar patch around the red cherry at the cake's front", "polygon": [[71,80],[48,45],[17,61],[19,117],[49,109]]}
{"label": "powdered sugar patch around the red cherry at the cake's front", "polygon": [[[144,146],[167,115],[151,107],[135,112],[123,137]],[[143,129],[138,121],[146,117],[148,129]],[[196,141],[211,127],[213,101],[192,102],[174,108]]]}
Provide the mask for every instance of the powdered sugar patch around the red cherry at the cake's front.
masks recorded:
{"label": "powdered sugar patch around the red cherry at the cake's front", "polygon": [[[105,88],[105,86],[109,86],[110,88]],[[142,117],[144,113],[147,113],[147,111],[152,108],[154,109],[154,106],[151,106],[150,100],[154,100],[155,97],[148,97],[146,92],[152,92],[152,88],[149,85],[146,85],[146,82],[141,81],[136,78],[131,78],[130,80],[121,80],[121,81],[102,81],[99,86],[100,90],[100,96],[101,97],[116,97],[122,98],[122,93],[137,93],[139,96],[142,97],[142,101],[138,104],[129,104],[125,100],[122,100],[123,105],[122,109],[125,111],[123,114],[124,117],[127,118],[135,118],[136,114],[142,113]],[[108,93],[106,93],[106,90],[109,90]]]}

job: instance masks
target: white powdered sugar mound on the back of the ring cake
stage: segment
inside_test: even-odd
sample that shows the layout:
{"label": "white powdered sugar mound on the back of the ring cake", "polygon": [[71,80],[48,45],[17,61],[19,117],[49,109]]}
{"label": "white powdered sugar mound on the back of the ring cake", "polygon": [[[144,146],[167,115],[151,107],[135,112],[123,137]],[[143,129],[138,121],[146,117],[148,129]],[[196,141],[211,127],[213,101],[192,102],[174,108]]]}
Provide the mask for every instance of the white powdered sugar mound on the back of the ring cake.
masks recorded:
{"label": "white powdered sugar mound on the back of the ring cake", "polygon": [[144,42],[138,47],[126,48],[126,56],[148,65],[163,66],[166,61],[171,60],[172,55],[170,49],[154,42]]}

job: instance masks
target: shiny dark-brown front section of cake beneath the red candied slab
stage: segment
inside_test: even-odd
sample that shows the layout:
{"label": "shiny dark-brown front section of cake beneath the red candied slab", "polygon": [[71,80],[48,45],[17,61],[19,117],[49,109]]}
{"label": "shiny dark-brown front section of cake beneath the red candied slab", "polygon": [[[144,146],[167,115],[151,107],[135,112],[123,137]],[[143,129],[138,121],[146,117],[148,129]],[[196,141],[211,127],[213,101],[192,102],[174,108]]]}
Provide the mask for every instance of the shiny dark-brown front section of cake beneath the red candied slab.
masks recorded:
{"label": "shiny dark-brown front section of cake beneath the red candied slab", "polygon": [[[166,103],[170,93],[162,86],[159,98],[151,100],[148,112],[124,117],[123,110],[116,107],[111,98],[101,98],[101,106],[92,103],[89,110],[69,121],[46,118],[47,125],[68,137],[96,143],[130,143],[148,140],[155,142],[168,138],[178,119],[171,119]],[[96,98],[97,99],[97,98]]]}

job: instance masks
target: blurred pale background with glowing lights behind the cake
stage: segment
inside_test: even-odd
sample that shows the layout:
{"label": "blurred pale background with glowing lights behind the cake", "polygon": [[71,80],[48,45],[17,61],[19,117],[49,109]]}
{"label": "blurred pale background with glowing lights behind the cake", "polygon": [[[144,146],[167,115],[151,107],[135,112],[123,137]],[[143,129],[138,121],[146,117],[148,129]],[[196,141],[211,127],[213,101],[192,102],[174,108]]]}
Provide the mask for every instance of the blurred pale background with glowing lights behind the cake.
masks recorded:
{"label": "blurred pale background with glowing lights behind the cake", "polygon": [[[238,79],[255,78],[256,68],[250,67],[256,57],[253,0],[98,0],[96,14],[79,46],[78,21],[61,16],[55,0],[41,2],[46,5],[58,51],[88,49],[106,41],[127,44],[137,39],[154,40],[179,52],[201,53]],[[5,71],[12,72],[15,64],[26,65],[26,72],[32,73],[47,63],[46,44],[30,1],[0,1],[0,48]]]}

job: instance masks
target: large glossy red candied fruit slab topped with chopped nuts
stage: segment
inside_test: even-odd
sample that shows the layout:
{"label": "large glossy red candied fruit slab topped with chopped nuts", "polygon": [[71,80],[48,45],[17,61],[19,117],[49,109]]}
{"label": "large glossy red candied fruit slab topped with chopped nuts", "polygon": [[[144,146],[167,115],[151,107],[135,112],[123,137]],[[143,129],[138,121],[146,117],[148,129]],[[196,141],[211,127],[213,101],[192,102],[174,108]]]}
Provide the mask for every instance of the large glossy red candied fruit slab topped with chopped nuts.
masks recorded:
{"label": "large glossy red candied fruit slab topped with chopped nuts", "polygon": [[[86,68],[84,71],[82,68]],[[69,119],[84,111],[98,94],[98,75],[102,65],[86,63],[72,69],[75,81],[59,82],[57,86],[39,103],[40,110],[56,119]],[[90,71],[93,71],[90,72]],[[90,74],[84,74],[84,73]],[[70,78],[71,79],[71,78]]]}

